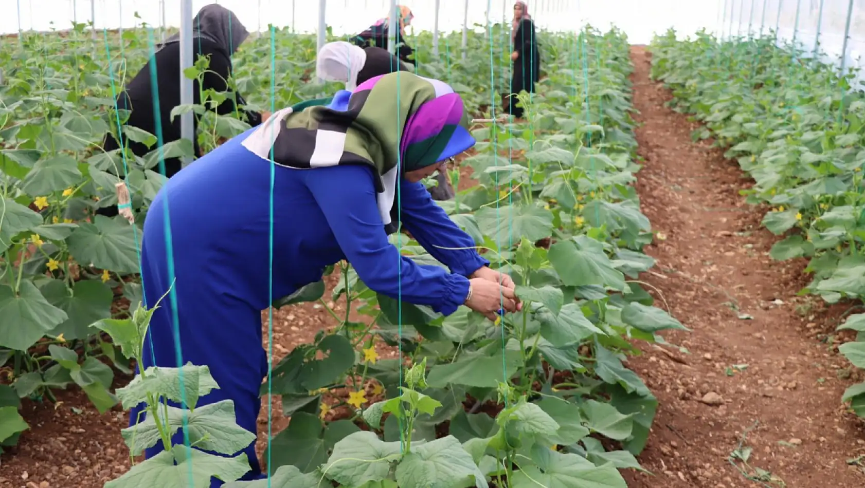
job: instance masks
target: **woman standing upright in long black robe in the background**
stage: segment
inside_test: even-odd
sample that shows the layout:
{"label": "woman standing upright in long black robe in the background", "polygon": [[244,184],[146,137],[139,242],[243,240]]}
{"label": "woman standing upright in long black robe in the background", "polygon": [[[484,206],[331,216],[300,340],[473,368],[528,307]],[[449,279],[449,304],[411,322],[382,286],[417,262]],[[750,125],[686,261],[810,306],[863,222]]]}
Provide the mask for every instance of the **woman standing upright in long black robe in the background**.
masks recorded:
{"label": "woman standing upright in long black robe in the background", "polygon": [[535,92],[535,83],[541,79],[541,54],[535,33],[535,22],[529,16],[529,6],[525,2],[514,3],[514,20],[510,32],[514,51],[513,73],[510,78],[511,96],[504,102],[505,110],[516,118],[522,118],[523,107],[519,105],[516,94],[525,91]]}

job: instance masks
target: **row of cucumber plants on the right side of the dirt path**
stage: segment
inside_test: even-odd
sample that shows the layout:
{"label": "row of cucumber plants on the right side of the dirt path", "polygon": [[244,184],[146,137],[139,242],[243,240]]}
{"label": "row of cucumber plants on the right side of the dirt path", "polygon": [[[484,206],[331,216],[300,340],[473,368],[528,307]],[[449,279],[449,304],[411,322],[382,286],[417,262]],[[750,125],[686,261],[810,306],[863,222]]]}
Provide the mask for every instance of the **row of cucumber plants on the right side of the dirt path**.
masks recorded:
{"label": "row of cucumber plants on the right side of the dirt path", "polygon": [[[650,47],[652,76],[673,92],[671,105],[702,122],[694,134],[727,149],[753,180],[747,201],[769,207],[762,225],[783,236],[776,260],[804,257],[811,282],[801,294],[828,303],[865,296],[865,94],[859,73],[839,73],[826,57],[777,41],[774,34],[720,41],[700,33],[676,41],[670,31]],[[839,330],[855,338],[838,350],[865,368],[865,314]],[[865,417],[865,383],[843,402]]]}

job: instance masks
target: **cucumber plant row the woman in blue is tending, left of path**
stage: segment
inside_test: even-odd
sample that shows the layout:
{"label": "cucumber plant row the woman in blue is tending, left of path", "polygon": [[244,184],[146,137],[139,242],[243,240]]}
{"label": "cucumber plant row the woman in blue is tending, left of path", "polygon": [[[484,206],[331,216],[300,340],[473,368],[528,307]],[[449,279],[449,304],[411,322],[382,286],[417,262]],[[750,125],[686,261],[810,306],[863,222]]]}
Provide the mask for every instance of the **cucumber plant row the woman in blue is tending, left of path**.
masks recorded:
{"label": "cucumber plant row the woman in blue is tending, left of path", "polygon": [[[227,488],[625,487],[618,469],[641,469],[635,455],[657,409],[624,364],[637,352],[631,339],[663,343],[657,333],[684,327],[638,281],[654,261],[642,252],[650,224],[631,186],[639,166],[625,35],[586,29],[547,41],[550,62],[569,68],[523,95],[529,122],[474,131],[484,142],[465,164],[478,184],[442,204],[514,277],[523,311],[496,322],[465,307],[442,317],[376,294],[341,263],[330,299],[356,303],[363,320],[329,309],[336,326],[282,358],[262,386],[291,417],[269,443],[269,481],[234,481],[247,469],[234,453],[254,435],[234,425],[231,402],[196,408],[218,385],[186,364],[149,368],[118,390],[125,408],[149,405],[148,420],[124,431],[131,455],[166,449],[106,486],[215,477]],[[441,265],[407,236],[394,245]],[[324,293],[313,283],[277,305],[324,304]],[[148,316],[138,308],[95,326],[137,357]],[[400,357],[380,358],[379,343]],[[182,397],[187,409],[159,400]],[[184,416],[193,447],[172,448]]]}

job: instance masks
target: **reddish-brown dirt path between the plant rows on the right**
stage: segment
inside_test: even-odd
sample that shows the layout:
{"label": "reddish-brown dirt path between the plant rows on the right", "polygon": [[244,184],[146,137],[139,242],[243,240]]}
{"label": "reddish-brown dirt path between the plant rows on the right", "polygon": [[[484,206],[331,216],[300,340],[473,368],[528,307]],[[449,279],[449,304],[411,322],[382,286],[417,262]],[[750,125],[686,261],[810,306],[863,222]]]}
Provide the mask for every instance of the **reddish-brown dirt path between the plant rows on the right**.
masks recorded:
{"label": "reddish-brown dirt path between the plant rows on the right", "polygon": [[[776,239],[738,193],[751,181],[719,150],[691,142],[695,124],[663,106],[670,92],[650,80],[645,48],[631,58],[645,159],[638,193],[659,233],[647,249],[658,276],[642,279],[693,332],[667,334],[687,352],[655,348],[630,361],[661,405],[640,457],[655,476],[628,473],[629,487],[865,485],[846,462],[865,454],[861,424],[840,402],[848,364],[814,339],[836,321],[795,296],[804,263],[766,255]],[[740,442],[771,479],[749,481],[731,466]]]}

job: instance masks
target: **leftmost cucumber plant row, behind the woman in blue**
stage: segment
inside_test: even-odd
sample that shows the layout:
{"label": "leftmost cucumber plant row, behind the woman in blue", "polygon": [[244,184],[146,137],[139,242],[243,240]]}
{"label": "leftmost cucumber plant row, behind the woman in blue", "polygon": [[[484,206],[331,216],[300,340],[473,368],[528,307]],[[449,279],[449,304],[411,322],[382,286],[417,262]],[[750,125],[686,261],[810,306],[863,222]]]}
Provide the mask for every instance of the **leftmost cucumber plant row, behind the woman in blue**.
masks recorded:
{"label": "leftmost cucumber plant row, behind the woman in blue", "polygon": [[[496,27],[497,38],[504,31]],[[457,45],[459,33],[445,35]],[[509,37],[508,37],[509,38]],[[470,37],[473,66],[489,66],[490,44]],[[336,40],[331,37],[330,41]],[[111,392],[115,372],[130,375],[126,356],[94,320],[124,319],[129,304],[141,301],[138,246],[146,210],[162,186],[156,135],[124,125],[129,112],[114,99],[142,67],[157,40],[146,29],[102,32],[94,43],[84,24],[62,33],[28,33],[0,44],[0,450],[14,445],[27,423],[18,413],[21,399],[54,401],[52,390],[77,385],[99,412],[119,399]],[[428,34],[419,42],[431,44]],[[249,125],[240,112],[215,116],[208,105],[247,95],[249,110],[270,110],[334,92],[335,85],[305,83],[315,66],[314,35],[273,29],[253,36],[234,55],[229,92],[208,90],[193,111],[202,154]],[[484,51],[484,48],[486,51]],[[271,99],[270,57],[276,59],[278,89]],[[506,56],[497,44],[497,66]],[[479,53],[479,54],[478,54]],[[479,68],[419,46],[421,73],[451,79],[477,105],[483,87]],[[457,57],[458,58],[458,57]],[[200,83],[208,60],[185,73]],[[142,107],[140,110],[147,110]],[[138,157],[128,149],[103,147],[106,135],[144,143],[152,150]],[[193,155],[189,141],[165,144],[164,157]],[[124,219],[95,216],[117,204],[115,185],[125,178],[138,215]],[[77,358],[77,359],[76,359]]]}

